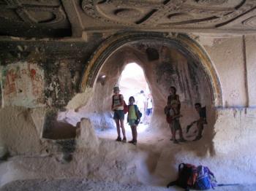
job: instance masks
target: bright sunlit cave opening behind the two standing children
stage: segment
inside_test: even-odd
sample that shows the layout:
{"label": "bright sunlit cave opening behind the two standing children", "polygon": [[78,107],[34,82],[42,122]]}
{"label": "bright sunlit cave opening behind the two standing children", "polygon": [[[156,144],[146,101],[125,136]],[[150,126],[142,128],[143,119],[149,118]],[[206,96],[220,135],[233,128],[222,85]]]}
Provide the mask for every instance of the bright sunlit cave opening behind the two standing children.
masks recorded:
{"label": "bright sunlit cave opening behind the two standing children", "polygon": [[[97,82],[101,82],[107,77],[105,74],[100,74]],[[131,62],[124,66],[121,75],[116,82],[120,88],[120,93],[124,96],[124,101],[129,104],[129,97],[135,98],[135,104],[142,113],[140,124],[138,124],[137,131],[140,139],[144,136],[144,132],[148,131],[153,113],[153,99],[151,96],[150,88],[143,69],[138,63]],[[113,113],[110,114],[111,121],[113,121],[112,128],[95,128],[97,136],[103,139],[116,139],[116,125],[113,120]],[[132,130],[127,122],[127,114],[124,116],[124,128],[126,131],[127,139],[132,139]]]}

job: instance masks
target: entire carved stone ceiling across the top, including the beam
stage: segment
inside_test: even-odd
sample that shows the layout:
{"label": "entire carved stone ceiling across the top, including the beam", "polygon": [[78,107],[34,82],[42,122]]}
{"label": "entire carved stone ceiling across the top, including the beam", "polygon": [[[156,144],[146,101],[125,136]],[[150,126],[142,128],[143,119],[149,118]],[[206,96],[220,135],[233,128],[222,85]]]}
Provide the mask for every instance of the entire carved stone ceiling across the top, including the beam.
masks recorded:
{"label": "entire carved stone ceiling across the top, including the beam", "polygon": [[81,36],[124,29],[255,33],[255,0],[0,0],[0,34]]}

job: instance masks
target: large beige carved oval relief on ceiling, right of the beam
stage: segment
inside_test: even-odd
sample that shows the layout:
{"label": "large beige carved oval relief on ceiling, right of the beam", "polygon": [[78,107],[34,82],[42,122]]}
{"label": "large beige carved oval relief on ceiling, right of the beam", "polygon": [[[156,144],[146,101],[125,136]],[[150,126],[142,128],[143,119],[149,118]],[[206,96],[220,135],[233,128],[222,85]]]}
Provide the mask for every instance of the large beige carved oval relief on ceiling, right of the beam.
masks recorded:
{"label": "large beige carved oval relief on ceiling, right of the beam", "polygon": [[83,0],[81,6],[90,17],[124,26],[219,27],[255,7],[255,0]]}

